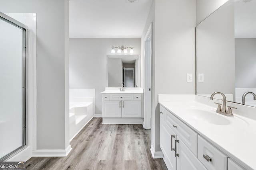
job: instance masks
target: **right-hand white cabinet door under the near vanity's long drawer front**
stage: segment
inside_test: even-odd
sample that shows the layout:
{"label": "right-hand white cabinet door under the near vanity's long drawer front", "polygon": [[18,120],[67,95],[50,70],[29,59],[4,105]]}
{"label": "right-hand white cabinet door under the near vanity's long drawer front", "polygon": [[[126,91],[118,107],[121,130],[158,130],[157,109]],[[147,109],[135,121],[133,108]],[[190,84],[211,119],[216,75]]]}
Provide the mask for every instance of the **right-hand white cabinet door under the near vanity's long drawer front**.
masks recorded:
{"label": "right-hand white cabinet door under the near vanity's long drawer front", "polygon": [[207,170],[179,137],[177,139],[177,170]]}

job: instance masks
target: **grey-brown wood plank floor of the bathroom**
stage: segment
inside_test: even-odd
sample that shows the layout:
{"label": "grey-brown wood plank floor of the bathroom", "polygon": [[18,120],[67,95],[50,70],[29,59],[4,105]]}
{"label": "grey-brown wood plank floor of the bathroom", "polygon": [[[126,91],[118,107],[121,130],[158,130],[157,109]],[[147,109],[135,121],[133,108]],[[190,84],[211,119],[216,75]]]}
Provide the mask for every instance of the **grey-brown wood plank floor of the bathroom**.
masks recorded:
{"label": "grey-brown wood plank floor of the bathroom", "polygon": [[102,124],[93,118],[70,142],[66,157],[32,157],[28,170],[167,170],[153,159],[150,130],[142,125]]}

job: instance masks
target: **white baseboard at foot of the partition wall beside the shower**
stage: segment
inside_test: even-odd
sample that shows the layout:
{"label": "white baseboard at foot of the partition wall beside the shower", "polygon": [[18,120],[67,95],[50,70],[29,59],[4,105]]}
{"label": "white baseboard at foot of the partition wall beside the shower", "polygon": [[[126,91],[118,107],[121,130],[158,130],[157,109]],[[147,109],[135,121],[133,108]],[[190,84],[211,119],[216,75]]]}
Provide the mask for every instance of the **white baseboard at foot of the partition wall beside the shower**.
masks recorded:
{"label": "white baseboard at foot of the partition wall beside the shower", "polygon": [[32,157],[65,157],[72,150],[71,145],[66,149],[41,149],[33,150]]}

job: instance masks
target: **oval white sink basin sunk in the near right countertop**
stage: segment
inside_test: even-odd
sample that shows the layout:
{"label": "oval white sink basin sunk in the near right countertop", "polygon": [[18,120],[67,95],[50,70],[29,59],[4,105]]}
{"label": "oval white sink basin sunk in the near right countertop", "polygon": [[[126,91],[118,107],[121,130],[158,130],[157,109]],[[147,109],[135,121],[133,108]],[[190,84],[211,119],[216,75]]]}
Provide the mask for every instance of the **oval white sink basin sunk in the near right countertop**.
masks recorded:
{"label": "oval white sink basin sunk in the near right countertop", "polygon": [[184,110],[186,114],[196,120],[205,121],[214,125],[230,125],[231,122],[226,117],[215,113],[197,108],[188,108]]}

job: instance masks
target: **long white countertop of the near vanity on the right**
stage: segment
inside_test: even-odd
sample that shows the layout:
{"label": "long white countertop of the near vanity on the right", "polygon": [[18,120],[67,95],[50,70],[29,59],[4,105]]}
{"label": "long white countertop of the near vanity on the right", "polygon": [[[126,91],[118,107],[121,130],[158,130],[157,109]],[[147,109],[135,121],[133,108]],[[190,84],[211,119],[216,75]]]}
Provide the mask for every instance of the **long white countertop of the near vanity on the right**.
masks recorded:
{"label": "long white countertop of the near vanity on the right", "polygon": [[[244,167],[248,169],[256,169],[256,156],[254,155],[256,153],[255,119],[236,114],[234,113],[234,110],[234,117],[221,115],[215,112],[217,105],[216,107],[212,107],[199,103],[196,100],[193,100],[193,98],[191,99],[192,100],[186,100],[185,102],[180,99],[177,102],[175,100],[160,100],[159,103],[168,111],[174,113],[176,117],[194,129],[199,135],[210,141],[210,143],[228,154],[228,156],[232,157]],[[206,100],[208,99],[206,98]],[[212,100],[210,100],[210,102],[214,103]],[[222,103],[222,101],[219,102]],[[216,113],[217,115],[214,116],[220,116],[218,117],[220,118],[220,124],[222,119],[225,120],[224,125],[218,125],[218,121],[216,121],[215,124],[209,123],[211,121],[210,119],[209,122],[202,120],[202,115],[198,117],[189,115],[190,110],[193,109],[210,111],[213,115]],[[236,110],[236,112],[238,111]]]}

